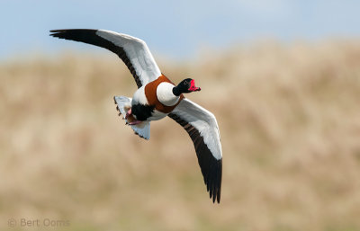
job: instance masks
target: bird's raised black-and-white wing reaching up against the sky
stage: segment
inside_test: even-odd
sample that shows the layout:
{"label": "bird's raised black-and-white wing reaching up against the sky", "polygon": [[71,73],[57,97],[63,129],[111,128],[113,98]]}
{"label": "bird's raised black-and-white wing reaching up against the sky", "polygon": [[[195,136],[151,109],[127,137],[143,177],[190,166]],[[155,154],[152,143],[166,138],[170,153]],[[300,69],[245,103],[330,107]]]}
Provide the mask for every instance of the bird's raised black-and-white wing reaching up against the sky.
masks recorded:
{"label": "bird's raised black-and-white wing reaching up against the sky", "polygon": [[90,29],[53,30],[50,32],[50,36],[59,39],[82,41],[111,50],[129,68],[138,88],[161,76],[160,69],[148,46],[138,38],[113,31]]}

